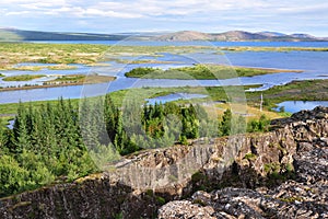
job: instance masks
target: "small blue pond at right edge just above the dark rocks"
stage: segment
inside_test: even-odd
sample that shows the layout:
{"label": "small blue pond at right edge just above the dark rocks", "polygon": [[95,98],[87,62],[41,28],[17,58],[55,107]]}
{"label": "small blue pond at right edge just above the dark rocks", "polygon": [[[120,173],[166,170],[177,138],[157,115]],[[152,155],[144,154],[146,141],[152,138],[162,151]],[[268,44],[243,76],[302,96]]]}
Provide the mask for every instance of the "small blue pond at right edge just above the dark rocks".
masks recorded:
{"label": "small blue pond at right edge just above the dark rocks", "polygon": [[280,107],[284,107],[285,112],[296,113],[302,110],[314,110],[316,106],[328,107],[328,101],[285,101],[277,105],[274,110],[279,111]]}

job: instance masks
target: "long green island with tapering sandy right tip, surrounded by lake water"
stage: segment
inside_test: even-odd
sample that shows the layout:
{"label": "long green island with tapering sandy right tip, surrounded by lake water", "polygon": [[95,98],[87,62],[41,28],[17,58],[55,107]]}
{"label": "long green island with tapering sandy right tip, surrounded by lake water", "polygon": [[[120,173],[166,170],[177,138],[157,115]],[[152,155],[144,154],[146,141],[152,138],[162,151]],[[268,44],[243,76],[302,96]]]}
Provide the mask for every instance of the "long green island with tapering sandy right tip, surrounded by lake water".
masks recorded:
{"label": "long green island with tapering sandy right tip, surrounded by lake water", "polygon": [[198,79],[198,80],[215,80],[230,79],[237,77],[253,77],[277,72],[301,72],[296,70],[282,69],[263,69],[263,68],[245,68],[229,67],[219,65],[196,65],[192,67],[171,68],[162,70],[159,68],[134,68],[126,73],[130,78],[148,78],[148,79]]}

